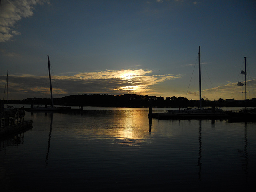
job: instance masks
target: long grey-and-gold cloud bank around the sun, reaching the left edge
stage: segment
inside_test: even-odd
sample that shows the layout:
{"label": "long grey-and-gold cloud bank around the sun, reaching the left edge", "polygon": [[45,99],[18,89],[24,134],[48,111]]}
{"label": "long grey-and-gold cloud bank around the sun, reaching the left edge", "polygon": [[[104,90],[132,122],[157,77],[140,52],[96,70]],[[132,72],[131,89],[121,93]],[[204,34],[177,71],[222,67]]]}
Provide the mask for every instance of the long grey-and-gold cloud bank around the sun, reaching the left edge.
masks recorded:
{"label": "long grey-and-gold cloud bank around the sun, reaching the left edge", "polygon": [[[180,78],[177,74],[152,75],[151,70],[106,70],[78,73],[73,76],[52,77],[54,97],[72,94],[156,94],[155,85],[167,80]],[[49,97],[47,76],[29,74],[8,76],[10,99]],[[0,91],[4,91],[6,77],[0,76]],[[9,92],[11,92],[9,94]],[[56,92],[60,95],[56,95]]]}

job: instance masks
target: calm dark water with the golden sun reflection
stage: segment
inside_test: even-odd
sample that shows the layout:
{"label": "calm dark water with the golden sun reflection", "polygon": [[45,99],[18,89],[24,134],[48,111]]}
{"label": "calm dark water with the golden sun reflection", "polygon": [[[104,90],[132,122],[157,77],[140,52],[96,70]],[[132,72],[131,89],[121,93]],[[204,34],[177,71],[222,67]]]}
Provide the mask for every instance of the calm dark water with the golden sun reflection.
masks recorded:
{"label": "calm dark water with the golden sun reflection", "polygon": [[255,187],[255,123],[150,121],[147,114],[145,108],[26,112],[33,128],[1,140],[0,188],[134,192]]}

